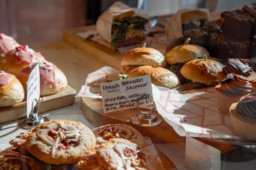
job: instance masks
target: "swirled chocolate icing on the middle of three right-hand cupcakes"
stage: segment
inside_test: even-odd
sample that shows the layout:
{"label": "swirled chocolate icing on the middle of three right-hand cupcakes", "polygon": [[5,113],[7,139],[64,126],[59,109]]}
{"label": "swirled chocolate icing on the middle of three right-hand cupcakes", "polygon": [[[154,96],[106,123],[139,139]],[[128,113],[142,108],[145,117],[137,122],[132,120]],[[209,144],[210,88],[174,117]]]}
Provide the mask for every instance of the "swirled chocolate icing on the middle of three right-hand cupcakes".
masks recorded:
{"label": "swirled chocolate icing on the middle of three right-hand cupcakes", "polygon": [[232,96],[241,96],[252,91],[252,84],[241,75],[229,73],[220,81],[222,93]]}

